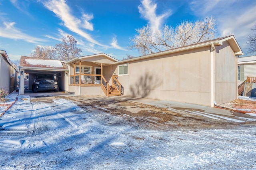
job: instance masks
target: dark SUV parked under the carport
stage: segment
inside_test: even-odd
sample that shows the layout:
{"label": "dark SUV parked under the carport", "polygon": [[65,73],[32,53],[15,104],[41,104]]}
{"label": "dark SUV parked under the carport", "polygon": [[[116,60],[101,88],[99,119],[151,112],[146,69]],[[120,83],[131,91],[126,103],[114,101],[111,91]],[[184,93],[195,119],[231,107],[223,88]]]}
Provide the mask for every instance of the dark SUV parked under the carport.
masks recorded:
{"label": "dark SUV parked under the carport", "polygon": [[58,82],[54,79],[53,75],[38,74],[34,79],[32,90],[34,93],[38,91],[54,90],[59,91]]}

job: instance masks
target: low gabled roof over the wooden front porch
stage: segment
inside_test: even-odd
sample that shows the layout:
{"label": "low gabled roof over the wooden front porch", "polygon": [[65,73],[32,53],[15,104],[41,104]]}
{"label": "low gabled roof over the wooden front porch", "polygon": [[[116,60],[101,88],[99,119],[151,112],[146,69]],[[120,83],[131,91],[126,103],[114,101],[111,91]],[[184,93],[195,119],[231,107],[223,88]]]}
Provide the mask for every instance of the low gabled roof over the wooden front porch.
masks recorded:
{"label": "low gabled roof over the wooden front porch", "polygon": [[73,64],[76,63],[78,61],[88,61],[88,62],[92,62],[92,63],[96,63],[98,65],[100,65],[102,63],[103,66],[106,65],[116,65],[116,62],[118,62],[118,59],[115,59],[105,53],[99,53],[99,54],[94,54],[94,55],[86,55],[86,56],[82,56],[82,57],[76,57],[73,58],[71,60],[69,60],[66,64]]}

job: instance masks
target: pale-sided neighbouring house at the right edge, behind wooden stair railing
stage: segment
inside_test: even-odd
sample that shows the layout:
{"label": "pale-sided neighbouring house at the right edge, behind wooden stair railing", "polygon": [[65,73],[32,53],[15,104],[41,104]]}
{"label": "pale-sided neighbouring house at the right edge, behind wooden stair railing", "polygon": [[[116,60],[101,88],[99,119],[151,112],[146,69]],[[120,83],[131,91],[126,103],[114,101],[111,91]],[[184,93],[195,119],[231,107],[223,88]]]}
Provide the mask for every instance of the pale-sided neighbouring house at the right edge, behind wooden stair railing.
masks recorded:
{"label": "pale-sided neighbouring house at the right edge, behind wooden stair railing", "polygon": [[239,57],[237,65],[238,85],[243,83],[247,77],[256,77],[256,56]]}

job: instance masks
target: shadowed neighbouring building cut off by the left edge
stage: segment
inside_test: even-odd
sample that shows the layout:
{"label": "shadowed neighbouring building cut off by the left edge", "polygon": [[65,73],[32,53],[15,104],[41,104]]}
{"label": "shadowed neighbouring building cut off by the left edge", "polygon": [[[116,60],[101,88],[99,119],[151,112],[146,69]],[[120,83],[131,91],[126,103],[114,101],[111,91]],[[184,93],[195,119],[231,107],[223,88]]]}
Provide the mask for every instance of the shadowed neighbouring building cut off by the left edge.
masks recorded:
{"label": "shadowed neighbouring building cut off by the left edge", "polygon": [[17,89],[18,67],[12,63],[6,51],[0,50],[0,89],[12,93]]}

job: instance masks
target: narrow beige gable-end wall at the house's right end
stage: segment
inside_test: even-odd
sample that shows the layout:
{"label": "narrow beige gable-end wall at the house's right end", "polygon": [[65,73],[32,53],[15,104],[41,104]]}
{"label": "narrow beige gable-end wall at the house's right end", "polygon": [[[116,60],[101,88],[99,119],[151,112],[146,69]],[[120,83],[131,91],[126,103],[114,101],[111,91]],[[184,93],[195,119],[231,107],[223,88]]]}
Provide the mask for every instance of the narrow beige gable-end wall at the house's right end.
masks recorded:
{"label": "narrow beige gable-end wall at the house's right end", "polygon": [[237,58],[228,42],[216,47],[215,101],[218,104],[237,99]]}

